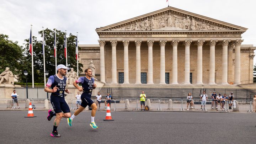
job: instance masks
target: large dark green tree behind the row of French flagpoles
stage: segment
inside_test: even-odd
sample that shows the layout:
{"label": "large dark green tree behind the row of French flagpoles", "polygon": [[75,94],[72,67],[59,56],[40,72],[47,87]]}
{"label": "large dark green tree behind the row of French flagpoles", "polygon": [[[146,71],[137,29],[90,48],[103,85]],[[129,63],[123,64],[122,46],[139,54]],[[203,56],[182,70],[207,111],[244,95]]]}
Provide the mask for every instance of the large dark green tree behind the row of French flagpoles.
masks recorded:
{"label": "large dark green tree behind the row of French flagpoles", "polygon": [[[34,82],[44,82],[44,70],[43,70],[43,50],[42,50],[42,31],[40,40],[33,37],[33,64],[34,64]],[[57,65],[66,65],[66,58],[64,57],[64,40],[65,32],[56,30],[57,41]],[[28,71],[28,82],[32,82],[32,57],[29,53],[29,39],[26,39],[25,58],[24,58],[24,70]],[[54,57],[54,31],[50,29],[44,30],[44,49],[45,49],[45,65],[46,70],[50,75],[55,74],[55,57]],[[76,36],[69,34],[67,36],[67,49],[68,49],[68,67],[76,70],[76,58],[75,58]],[[79,63],[79,72],[82,72],[83,65]],[[25,76],[21,76],[21,80],[25,82]]]}

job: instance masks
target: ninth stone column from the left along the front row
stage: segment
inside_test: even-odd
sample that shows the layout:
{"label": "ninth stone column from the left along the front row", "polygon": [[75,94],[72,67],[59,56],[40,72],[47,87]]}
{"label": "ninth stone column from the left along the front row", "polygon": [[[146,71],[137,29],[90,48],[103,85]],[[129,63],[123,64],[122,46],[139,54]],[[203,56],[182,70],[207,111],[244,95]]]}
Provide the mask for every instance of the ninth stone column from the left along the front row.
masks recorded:
{"label": "ninth stone column from the left along the front row", "polygon": [[203,43],[205,40],[197,41],[197,84],[203,84]]}

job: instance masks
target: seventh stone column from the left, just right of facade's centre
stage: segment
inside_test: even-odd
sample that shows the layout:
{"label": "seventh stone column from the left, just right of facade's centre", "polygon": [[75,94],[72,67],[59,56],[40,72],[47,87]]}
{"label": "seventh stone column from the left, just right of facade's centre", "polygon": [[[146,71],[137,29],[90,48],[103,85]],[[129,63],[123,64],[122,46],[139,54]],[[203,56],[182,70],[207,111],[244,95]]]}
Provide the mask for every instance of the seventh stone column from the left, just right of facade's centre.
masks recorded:
{"label": "seventh stone column from the left, just right of facade's centre", "polygon": [[178,84],[178,42],[179,40],[172,41],[172,84]]}

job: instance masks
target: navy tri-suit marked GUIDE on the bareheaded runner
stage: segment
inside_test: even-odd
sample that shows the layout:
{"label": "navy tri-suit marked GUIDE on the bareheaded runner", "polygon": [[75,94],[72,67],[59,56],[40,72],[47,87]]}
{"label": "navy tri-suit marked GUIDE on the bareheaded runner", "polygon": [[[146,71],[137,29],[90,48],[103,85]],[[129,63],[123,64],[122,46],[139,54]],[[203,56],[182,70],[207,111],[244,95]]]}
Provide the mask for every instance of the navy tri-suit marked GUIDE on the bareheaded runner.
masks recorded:
{"label": "navy tri-suit marked GUIDE on the bareheaded runner", "polygon": [[86,77],[80,77],[78,80],[75,81],[77,84],[81,83],[82,88],[84,88],[84,91],[81,95],[81,106],[86,107],[86,106],[91,106],[94,101],[91,100],[91,93],[94,85],[94,79],[91,78],[90,80],[87,79]]}

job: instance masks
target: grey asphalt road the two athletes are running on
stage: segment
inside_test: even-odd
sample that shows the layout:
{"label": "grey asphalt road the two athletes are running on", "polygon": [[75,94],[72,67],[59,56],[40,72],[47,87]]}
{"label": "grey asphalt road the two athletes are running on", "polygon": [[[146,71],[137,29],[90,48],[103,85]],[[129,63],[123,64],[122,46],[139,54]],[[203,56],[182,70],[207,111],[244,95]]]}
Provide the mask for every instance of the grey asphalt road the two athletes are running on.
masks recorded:
{"label": "grey asphalt road the two athletes are running on", "polygon": [[[73,112],[71,112],[73,114]],[[35,118],[24,118],[27,111],[0,111],[0,143],[147,143],[147,144],[255,144],[256,114],[210,112],[111,112],[114,121],[103,121],[98,111],[98,129],[89,126],[90,111],[75,117],[73,126],[62,119],[60,138],[50,137],[53,119],[47,111],[34,111]]]}

